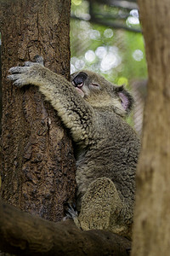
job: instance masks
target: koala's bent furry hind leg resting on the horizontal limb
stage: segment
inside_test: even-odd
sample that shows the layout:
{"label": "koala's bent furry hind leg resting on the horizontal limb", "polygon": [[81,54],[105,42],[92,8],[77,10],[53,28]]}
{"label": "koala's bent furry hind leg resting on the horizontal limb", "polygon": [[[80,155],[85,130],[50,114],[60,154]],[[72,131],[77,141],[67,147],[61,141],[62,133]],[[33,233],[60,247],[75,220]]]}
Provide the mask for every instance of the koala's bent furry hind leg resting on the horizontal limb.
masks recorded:
{"label": "koala's bent furry hind leg resting on the horizontal limb", "polygon": [[101,177],[88,187],[82,197],[81,212],[75,221],[82,230],[111,230],[114,232],[114,218],[122,212],[122,201],[111,179]]}

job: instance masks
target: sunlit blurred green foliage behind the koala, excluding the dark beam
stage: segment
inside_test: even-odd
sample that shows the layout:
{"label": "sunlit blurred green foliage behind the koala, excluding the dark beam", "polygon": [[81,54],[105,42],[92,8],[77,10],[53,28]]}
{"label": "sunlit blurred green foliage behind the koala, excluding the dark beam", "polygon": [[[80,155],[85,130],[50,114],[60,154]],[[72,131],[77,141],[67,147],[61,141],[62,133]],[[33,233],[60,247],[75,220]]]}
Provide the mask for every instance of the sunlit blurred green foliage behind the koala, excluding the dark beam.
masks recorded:
{"label": "sunlit blurred green foliage behind the koala, excluding the dark beam", "polygon": [[[71,19],[71,72],[88,68],[116,84],[145,79],[147,68],[142,34],[90,23],[88,4],[85,0],[72,0],[71,14],[77,19]],[[108,10],[113,17],[120,12],[105,5],[107,14]],[[98,6],[95,13],[99,11]],[[139,26],[136,13],[128,16],[126,22],[127,26]]]}

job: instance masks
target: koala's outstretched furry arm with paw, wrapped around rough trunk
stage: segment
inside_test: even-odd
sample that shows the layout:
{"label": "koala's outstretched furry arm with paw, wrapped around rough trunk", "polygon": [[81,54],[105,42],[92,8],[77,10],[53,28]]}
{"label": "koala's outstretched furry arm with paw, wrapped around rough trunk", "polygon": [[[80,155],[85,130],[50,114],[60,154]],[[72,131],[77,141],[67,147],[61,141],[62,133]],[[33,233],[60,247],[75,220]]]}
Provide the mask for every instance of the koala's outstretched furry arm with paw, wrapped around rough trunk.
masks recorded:
{"label": "koala's outstretched furry arm with paw, wrapped around rough trunk", "polygon": [[94,131],[93,108],[82,100],[71,82],[61,75],[37,63],[26,62],[26,65],[29,67],[11,67],[8,79],[14,80],[14,85],[18,87],[26,84],[37,85],[47,101],[57,110],[65,126],[71,130],[74,141],[89,144],[89,134]]}

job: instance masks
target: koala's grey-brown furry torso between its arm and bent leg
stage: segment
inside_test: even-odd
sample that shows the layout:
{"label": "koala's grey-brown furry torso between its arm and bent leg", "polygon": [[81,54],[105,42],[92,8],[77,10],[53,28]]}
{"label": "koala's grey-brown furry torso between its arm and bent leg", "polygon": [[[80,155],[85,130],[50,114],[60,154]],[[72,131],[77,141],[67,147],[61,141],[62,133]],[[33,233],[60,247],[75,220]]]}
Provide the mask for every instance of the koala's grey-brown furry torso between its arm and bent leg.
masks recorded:
{"label": "koala's grey-brown furry torso between its arm and bent leg", "polygon": [[108,177],[115,183],[122,201],[131,207],[139,138],[133,128],[113,112],[96,111],[94,124],[92,145],[82,149],[77,159],[77,206],[90,183],[98,177]]}

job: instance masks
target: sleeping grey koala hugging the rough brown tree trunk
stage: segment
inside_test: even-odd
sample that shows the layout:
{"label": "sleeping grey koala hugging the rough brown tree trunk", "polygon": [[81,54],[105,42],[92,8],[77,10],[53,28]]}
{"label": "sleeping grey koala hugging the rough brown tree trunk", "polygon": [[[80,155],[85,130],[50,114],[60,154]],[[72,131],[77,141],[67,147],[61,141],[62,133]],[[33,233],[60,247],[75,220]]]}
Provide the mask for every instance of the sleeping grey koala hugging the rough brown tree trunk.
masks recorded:
{"label": "sleeping grey koala hugging the rough brown tree trunk", "polygon": [[41,56],[11,67],[14,85],[38,86],[71,132],[77,160],[77,211],[82,230],[131,237],[139,137],[125,118],[133,97],[97,73],[82,70],[71,82],[43,66]]}

